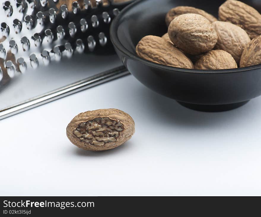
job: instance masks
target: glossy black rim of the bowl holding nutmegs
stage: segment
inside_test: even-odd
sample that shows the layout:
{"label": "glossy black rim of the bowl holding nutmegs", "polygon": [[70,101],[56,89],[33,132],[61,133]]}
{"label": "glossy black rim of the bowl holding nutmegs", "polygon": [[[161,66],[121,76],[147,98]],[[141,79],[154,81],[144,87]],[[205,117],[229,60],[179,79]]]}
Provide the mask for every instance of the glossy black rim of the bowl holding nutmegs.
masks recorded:
{"label": "glossy black rim of the bowl holding nutmegs", "polygon": [[[179,67],[173,67],[173,66],[166,66],[162,64],[158,64],[155,62],[151,62],[149,60],[145,60],[141,57],[139,57],[136,54],[133,54],[133,52],[130,52],[128,49],[125,48],[125,46],[122,45],[118,38],[117,30],[119,26],[120,19],[125,15],[126,12],[128,12],[133,7],[136,7],[136,5],[140,4],[142,1],[147,0],[136,0],[133,3],[129,4],[127,7],[125,7],[112,21],[111,27],[110,27],[110,38],[112,41],[112,44],[119,49],[122,53],[127,55],[128,57],[137,60],[139,62],[142,62],[146,65],[162,68],[165,70],[170,71],[179,71],[179,72],[186,72],[186,73],[200,73],[200,74],[221,74],[221,73],[238,73],[238,72],[244,72],[244,71],[250,71],[254,69],[260,69],[261,64],[259,65],[253,65],[248,67],[242,67],[242,68],[234,68],[234,69],[219,69],[219,70],[198,70],[198,69],[186,69],[186,68],[179,68]],[[253,40],[253,39],[252,39]]]}

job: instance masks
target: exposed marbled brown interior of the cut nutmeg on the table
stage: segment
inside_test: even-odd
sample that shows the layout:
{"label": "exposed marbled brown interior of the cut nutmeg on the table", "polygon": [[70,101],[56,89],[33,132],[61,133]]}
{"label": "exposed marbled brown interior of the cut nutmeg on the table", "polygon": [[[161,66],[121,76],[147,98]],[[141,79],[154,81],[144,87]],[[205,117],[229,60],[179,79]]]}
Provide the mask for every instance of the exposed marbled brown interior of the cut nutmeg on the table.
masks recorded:
{"label": "exposed marbled brown interior of the cut nutmeg on the table", "polygon": [[124,126],[120,121],[103,117],[80,123],[73,134],[83,142],[101,146],[108,142],[116,142],[123,130]]}

